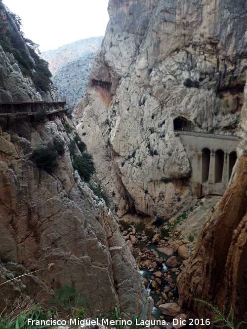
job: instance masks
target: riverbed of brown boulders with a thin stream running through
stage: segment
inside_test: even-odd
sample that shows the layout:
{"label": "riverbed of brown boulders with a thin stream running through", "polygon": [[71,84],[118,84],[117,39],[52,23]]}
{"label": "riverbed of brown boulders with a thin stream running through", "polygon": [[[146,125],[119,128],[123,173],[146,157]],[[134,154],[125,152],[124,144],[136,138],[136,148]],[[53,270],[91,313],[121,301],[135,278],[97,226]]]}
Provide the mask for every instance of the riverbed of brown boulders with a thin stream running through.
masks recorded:
{"label": "riverbed of brown boulders with a thin stream running through", "polygon": [[[174,317],[188,319],[177,305],[176,277],[184,267],[193,244],[179,238],[172,241],[161,233],[156,233],[151,237],[149,235],[155,232],[153,228],[138,232],[136,227],[140,231],[141,226],[138,224],[130,225],[125,230],[120,224],[126,244],[135,256],[137,266],[143,276],[145,288],[154,300],[153,317],[166,321]],[[179,236],[180,231],[181,229],[176,228],[174,236]],[[164,231],[162,233],[164,234]],[[165,329],[171,328],[182,327],[165,326]]]}

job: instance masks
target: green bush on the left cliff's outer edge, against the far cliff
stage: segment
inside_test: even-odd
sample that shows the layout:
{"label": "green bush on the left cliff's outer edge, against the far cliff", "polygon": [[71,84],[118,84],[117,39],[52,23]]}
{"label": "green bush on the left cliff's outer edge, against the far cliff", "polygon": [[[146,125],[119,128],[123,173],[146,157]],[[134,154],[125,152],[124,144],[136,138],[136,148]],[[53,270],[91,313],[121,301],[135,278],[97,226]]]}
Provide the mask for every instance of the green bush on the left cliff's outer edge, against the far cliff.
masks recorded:
{"label": "green bush on the left cliff's outer edge, against the far cliff", "polygon": [[95,172],[92,155],[87,152],[83,152],[82,156],[74,156],[73,165],[80,177],[84,178],[86,182],[90,180],[91,175]]}

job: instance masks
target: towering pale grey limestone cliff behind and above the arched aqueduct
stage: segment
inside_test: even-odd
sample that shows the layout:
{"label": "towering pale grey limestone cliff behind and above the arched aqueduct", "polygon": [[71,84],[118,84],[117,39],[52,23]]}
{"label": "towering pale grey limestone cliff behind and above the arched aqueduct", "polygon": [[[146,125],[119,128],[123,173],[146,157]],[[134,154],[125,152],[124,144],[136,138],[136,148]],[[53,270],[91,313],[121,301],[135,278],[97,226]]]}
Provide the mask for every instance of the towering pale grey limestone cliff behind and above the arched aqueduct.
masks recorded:
{"label": "towering pale grey limestone cliff behind and above the arched aqueduct", "polygon": [[245,85],[246,1],[110,0],[110,22],[75,111],[119,217],[169,216],[190,201],[173,120],[236,132]]}

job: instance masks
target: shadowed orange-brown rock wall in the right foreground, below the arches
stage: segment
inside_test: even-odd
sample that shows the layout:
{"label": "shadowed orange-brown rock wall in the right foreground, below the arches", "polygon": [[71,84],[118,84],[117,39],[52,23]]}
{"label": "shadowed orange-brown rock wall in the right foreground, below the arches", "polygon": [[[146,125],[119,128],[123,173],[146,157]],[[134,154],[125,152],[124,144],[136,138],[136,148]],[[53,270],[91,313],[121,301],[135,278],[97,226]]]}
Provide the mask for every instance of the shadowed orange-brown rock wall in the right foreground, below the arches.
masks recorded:
{"label": "shadowed orange-brown rock wall in the right foreground, below the arches", "polygon": [[209,212],[197,251],[178,277],[179,303],[195,317],[215,316],[193,300],[199,298],[220,310],[233,307],[236,322],[247,319],[247,84],[244,96],[232,184]]}

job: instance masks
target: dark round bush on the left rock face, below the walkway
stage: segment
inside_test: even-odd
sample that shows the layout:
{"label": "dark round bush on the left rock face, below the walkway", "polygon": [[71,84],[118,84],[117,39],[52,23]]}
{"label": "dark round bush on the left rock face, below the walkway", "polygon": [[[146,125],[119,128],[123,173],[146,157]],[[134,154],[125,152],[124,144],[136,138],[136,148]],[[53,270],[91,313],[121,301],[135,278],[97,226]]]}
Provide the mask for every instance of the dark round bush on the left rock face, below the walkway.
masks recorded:
{"label": "dark round bush on the left rock face, below the walkway", "polygon": [[31,157],[38,168],[48,172],[57,167],[57,158],[57,151],[48,146],[34,149]]}

